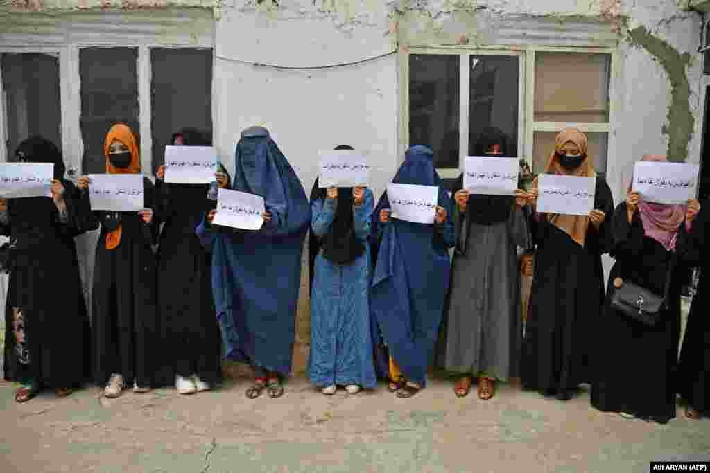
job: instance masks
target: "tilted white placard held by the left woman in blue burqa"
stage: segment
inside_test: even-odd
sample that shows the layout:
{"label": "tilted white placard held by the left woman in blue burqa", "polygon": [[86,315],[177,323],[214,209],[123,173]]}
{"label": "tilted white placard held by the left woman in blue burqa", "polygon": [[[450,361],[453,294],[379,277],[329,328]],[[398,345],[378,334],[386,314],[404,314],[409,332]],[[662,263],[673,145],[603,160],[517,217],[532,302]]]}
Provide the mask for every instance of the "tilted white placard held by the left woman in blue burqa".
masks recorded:
{"label": "tilted white placard held by the left woman in blue burqa", "polygon": [[263,226],[261,213],[266,210],[262,196],[247,192],[219,189],[217,212],[212,223],[243,230],[258,230]]}

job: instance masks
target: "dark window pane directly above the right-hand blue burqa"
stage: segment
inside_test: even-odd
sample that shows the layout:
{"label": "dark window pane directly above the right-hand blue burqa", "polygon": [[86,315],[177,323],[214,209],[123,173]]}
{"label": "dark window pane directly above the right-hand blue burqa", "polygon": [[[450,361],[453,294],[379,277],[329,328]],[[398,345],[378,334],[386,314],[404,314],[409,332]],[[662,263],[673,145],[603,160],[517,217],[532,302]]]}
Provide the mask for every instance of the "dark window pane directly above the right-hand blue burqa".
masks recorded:
{"label": "dark window pane directly above the right-hand blue burqa", "polygon": [[460,64],[457,55],[409,57],[409,144],[430,146],[439,168],[459,167]]}

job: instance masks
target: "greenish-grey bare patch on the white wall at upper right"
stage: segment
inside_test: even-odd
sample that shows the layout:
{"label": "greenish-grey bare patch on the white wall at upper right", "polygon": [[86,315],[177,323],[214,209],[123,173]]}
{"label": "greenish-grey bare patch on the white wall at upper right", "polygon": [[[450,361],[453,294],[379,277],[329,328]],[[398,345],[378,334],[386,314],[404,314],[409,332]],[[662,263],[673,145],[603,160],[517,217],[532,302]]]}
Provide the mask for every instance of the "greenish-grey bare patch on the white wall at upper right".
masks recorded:
{"label": "greenish-grey bare patch on the white wall at upper right", "polygon": [[692,56],[687,52],[680,54],[664,40],[652,35],[645,26],[629,30],[628,37],[632,45],[646,50],[663,67],[670,81],[671,99],[661,132],[668,137],[668,159],[682,162],[688,156],[688,143],[695,128],[686,72],[686,67],[692,65]]}

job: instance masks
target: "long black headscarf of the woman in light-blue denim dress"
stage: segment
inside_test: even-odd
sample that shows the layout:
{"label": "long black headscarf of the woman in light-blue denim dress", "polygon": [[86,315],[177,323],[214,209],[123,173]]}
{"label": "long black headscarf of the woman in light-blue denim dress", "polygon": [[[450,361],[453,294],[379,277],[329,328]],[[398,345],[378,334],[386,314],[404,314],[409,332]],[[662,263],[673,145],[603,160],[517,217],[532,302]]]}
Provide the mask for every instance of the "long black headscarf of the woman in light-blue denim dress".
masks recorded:
{"label": "long black headscarf of the woman in light-blue denim dress", "polygon": [[[352,150],[349,145],[340,145],[336,150]],[[310,201],[325,201],[327,189],[318,186],[318,179],[313,184],[310,194]],[[311,232],[308,242],[311,268],[311,284],[313,282],[313,270],[315,267],[315,257],[320,248],[323,248],[323,257],[337,265],[346,265],[356,260],[362,255],[366,247],[364,243],[357,240],[353,228],[353,189],[352,187],[340,187],[338,189],[338,204],[333,218],[332,226],[327,235],[322,240]]]}

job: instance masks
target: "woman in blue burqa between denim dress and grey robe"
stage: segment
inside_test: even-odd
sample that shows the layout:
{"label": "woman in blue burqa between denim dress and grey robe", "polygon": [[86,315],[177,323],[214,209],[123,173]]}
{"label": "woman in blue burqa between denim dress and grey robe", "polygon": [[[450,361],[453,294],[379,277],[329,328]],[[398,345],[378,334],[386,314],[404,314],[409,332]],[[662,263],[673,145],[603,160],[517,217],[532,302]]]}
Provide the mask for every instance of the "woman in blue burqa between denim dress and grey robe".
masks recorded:
{"label": "woman in blue burqa between denim dress and grey robe", "polygon": [[425,146],[408,150],[392,182],[439,187],[433,224],[390,218],[386,192],[373,213],[372,238],[379,249],[370,294],[372,316],[390,355],[388,389],[408,398],[425,386],[433,358],[449,286],[454,205],[434,169],[432,150]]}

